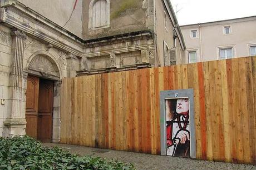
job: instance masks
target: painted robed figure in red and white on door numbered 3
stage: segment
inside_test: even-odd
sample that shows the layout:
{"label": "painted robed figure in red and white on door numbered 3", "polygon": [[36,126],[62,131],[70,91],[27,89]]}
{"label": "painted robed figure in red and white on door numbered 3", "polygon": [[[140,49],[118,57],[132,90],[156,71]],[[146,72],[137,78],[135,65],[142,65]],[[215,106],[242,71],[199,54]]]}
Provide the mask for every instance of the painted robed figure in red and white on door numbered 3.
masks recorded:
{"label": "painted robed figure in red and white on door numbered 3", "polygon": [[190,157],[189,98],[165,99],[167,155]]}

